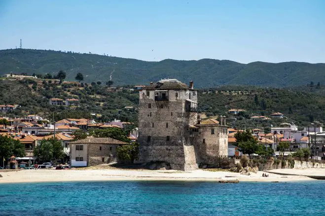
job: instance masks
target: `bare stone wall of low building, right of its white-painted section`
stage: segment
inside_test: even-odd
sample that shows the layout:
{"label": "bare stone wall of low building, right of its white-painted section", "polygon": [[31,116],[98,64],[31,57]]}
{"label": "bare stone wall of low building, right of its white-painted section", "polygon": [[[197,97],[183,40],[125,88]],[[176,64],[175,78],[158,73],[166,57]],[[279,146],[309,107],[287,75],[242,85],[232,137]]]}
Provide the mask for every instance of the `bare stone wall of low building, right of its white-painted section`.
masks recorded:
{"label": "bare stone wall of low building, right of its white-painted section", "polygon": [[[100,150],[100,147],[102,150]],[[112,158],[116,157],[117,145],[108,144],[88,144],[88,166],[109,163]],[[112,157],[109,155],[112,154]],[[103,162],[104,157],[104,162]]]}

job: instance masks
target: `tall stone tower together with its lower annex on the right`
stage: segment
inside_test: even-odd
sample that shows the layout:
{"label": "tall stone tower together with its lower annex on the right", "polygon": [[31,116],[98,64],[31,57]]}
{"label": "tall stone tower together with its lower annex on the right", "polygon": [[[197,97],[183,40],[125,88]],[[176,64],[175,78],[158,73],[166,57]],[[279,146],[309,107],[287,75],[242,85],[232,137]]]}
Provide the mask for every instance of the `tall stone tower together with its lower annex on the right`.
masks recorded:
{"label": "tall stone tower together with its lower annex on the right", "polygon": [[160,80],[139,90],[139,160],[161,161],[172,169],[193,170],[227,155],[227,126],[201,122],[197,91],[176,79]]}

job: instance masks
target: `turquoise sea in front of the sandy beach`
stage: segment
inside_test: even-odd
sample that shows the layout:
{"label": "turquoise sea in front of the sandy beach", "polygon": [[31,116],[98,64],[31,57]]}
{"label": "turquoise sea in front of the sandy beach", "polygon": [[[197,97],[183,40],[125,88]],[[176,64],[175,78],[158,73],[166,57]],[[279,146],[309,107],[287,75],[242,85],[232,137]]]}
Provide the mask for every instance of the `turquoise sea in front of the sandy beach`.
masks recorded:
{"label": "turquoise sea in front of the sandy beach", "polygon": [[325,216],[325,181],[0,184],[1,216]]}

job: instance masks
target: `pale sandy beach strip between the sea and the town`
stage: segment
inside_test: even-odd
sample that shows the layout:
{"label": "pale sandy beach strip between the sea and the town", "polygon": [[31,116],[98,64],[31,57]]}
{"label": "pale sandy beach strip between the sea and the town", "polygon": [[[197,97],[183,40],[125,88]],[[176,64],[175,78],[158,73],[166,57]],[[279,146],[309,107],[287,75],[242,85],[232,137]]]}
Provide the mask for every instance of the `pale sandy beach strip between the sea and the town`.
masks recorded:
{"label": "pale sandy beach strip between the sea and the town", "polygon": [[[69,170],[14,170],[0,171],[0,183],[34,183],[34,182],[69,182],[69,181],[215,181],[239,180],[250,182],[289,182],[289,181],[315,181],[303,176],[306,174],[323,175],[325,169],[279,169],[270,170],[281,175],[269,173],[269,177],[262,177],[263,172],[251,173],[250,176],[228,171],[194,170],[182,172],[176,170],[145,170],[121,169],[110,166],[87,169]],[[264,172],[265,173],[265,172]],[[288,173],[289,175],[284,175]],[[293,174],[293,175],[292,175]]]}

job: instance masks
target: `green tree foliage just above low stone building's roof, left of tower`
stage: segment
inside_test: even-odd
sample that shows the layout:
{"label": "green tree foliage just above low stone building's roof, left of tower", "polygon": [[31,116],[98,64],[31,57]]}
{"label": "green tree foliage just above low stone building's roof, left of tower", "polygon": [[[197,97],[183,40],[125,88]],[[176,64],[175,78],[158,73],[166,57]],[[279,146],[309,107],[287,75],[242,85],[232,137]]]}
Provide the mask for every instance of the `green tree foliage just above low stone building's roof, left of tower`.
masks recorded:
{"label": "green tree foliage just above low stone building's roof, left of tower", "polygon": [[110,137],[123,142],[130,142],[126,132],[116,127],[110,127],[107,129],[93,129],[89,131],[89,135],[101,138]]}

